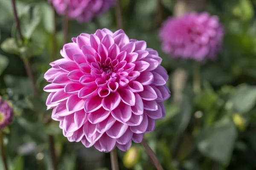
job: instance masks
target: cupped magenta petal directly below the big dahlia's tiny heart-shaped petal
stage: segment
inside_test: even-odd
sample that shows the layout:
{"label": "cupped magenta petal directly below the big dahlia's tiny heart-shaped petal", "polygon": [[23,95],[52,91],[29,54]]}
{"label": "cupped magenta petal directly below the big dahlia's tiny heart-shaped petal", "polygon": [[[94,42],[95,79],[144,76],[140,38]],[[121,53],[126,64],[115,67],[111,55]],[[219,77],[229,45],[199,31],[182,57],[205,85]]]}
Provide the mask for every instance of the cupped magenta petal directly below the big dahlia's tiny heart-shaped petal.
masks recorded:
{"label": "cupped magenta petal directly below the big dahlia's tiny heart-shaped petal", "polygon": [[118,92],[111,93],[107,97],[103,98],[102,106],[108,111],[115,109],[121,101],[121,97]]}

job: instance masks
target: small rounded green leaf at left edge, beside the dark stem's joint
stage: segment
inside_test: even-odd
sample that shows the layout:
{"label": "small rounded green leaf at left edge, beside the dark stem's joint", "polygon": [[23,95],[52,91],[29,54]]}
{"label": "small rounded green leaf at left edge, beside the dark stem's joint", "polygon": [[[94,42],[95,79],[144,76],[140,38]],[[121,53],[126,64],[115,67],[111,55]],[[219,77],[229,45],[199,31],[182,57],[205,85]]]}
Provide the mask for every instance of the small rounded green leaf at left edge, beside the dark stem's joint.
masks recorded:
{"label": "small rounded green leaf at left edge, beside the dark stem's joint", "polygon": [[19,47],[17,46],[15,38],[5,39],[1,44],[1,48],[6,53],[19,54]]}

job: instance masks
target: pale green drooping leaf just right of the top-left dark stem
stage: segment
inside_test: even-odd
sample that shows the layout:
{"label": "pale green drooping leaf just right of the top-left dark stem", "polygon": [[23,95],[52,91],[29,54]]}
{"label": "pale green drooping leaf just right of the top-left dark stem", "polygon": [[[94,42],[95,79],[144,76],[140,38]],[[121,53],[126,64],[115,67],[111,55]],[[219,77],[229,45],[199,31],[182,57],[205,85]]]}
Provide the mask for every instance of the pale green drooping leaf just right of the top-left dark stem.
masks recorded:
{"label": "pale green drooping leaf just right of the top-left dark stem", "polygon": [[38,27],[41,21],[41,9],[40,6],[28,5],[23,9],[20,16],[20,27],[22,35],[30,39],[35,29]]}

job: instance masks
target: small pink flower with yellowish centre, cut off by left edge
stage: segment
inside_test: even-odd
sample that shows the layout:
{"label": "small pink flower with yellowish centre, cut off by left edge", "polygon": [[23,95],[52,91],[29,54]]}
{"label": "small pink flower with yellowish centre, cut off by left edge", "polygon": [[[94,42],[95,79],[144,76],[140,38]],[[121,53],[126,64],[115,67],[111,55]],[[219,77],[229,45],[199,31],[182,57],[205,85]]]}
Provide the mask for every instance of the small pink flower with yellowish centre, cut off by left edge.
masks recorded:
{"label": "small pink flower with yellowish centre, cut off by left edge", "polygon": [[13,109],[0,96],[0,130],[12,123]]}

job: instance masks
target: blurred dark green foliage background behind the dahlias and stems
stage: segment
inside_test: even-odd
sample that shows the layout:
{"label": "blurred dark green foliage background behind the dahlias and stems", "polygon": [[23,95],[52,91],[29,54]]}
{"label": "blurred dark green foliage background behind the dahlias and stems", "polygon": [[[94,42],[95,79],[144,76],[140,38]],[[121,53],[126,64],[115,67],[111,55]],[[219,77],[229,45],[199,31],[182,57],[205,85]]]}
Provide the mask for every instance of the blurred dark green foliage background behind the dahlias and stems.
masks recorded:
{"label": "blurred dark green foliage background behind the dahlias and stems", "polygon": [[[145,139],[165,170],[256,170],[256,0],[207,0],[205,11],[220,17],[225,37],[218,59],[201,64],[202,89],[197,94],[192,61],[174,60],[161,51],[159,28],[177,14],[175,4],[121,0],[125,33],[157,50],[169,73],[172,97],[165,103],[166,118],[157,120],[155,132]],[[60,170],[110,170],[108,153],[68,142],[58,122],[47,122],[51,111],[46,111],[43,75],[52,61],[52,7],[46,0],[17,0],[17,11],[26,47],[15,45],[11,0],[0,0],[0,95],[15,108],[13,124],[4,129],[11,170],[52,170],[47,135],[54,136]],[[57,51],[64,44],[62,21],[57,16]],[[99,28],[115,31],[116,25],[114,8],[89,23],[70,21],[69,41]],[[33,96],[21,57],[31,62],[38,97]],[[121,170],[154,170],[140,144],[133,143],[132,150],[119,151],[118,156]]]}

